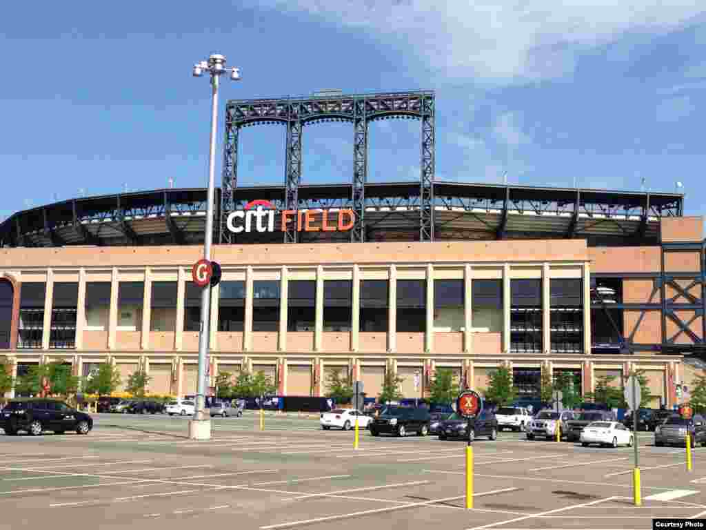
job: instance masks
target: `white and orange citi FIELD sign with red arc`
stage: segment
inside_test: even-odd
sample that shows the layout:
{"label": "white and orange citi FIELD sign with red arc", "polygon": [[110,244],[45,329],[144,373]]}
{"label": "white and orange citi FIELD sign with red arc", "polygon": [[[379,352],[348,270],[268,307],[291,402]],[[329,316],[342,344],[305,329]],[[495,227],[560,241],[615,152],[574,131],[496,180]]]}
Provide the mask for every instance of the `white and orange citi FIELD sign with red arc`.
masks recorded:
{"label": "white and orange citi FIELD sign with red arc", "polygon": [[[341,208],[337,211],[337,222],[329,220],[329,209],[313,211],[282,210],[280,211],[280,225],[275,227],[275,213],[277,208],[270,201],[258,199],[250,201],[244,210],[228,214],[226,226],[228,230],[238,234],[240,232],[286,232],[296,226],[297,232],[345,232],[353,228],[355,213],[350,208]],[[254,228],[253,228],[254,227]]]}

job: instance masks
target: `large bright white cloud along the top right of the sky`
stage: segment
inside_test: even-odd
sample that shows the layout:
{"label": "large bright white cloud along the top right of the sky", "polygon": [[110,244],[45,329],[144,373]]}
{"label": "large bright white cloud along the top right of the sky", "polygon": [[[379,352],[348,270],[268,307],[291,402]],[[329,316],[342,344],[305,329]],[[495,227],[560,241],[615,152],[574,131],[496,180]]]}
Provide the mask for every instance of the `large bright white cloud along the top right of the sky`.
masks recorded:
{"label": "large bright white cloud along the top right of the sky", "polygon": [[557,78],[575,54],[630,31],[664,33],[704,12],[702,0],[261,0],[325,23],[402,43],[449,78],[496,83]]}

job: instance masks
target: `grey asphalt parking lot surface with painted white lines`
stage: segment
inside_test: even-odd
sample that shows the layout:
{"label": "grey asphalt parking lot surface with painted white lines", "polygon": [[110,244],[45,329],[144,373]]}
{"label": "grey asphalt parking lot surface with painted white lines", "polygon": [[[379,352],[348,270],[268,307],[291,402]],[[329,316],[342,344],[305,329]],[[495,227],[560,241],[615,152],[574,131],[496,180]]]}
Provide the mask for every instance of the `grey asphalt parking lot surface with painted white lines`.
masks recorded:
{"label": "grey asphalt parking lot surface with painted white lines", "polygon": [[[465,510],[464,442],[323,431],[315,419],[213,420],[95,415],[88,436],[0,435],[0,528],[645,529],[653,517],[706,517],[706,449],[633,449],[476,440],[474,510]],[[202,527],[206,527],[202,526]]]}

